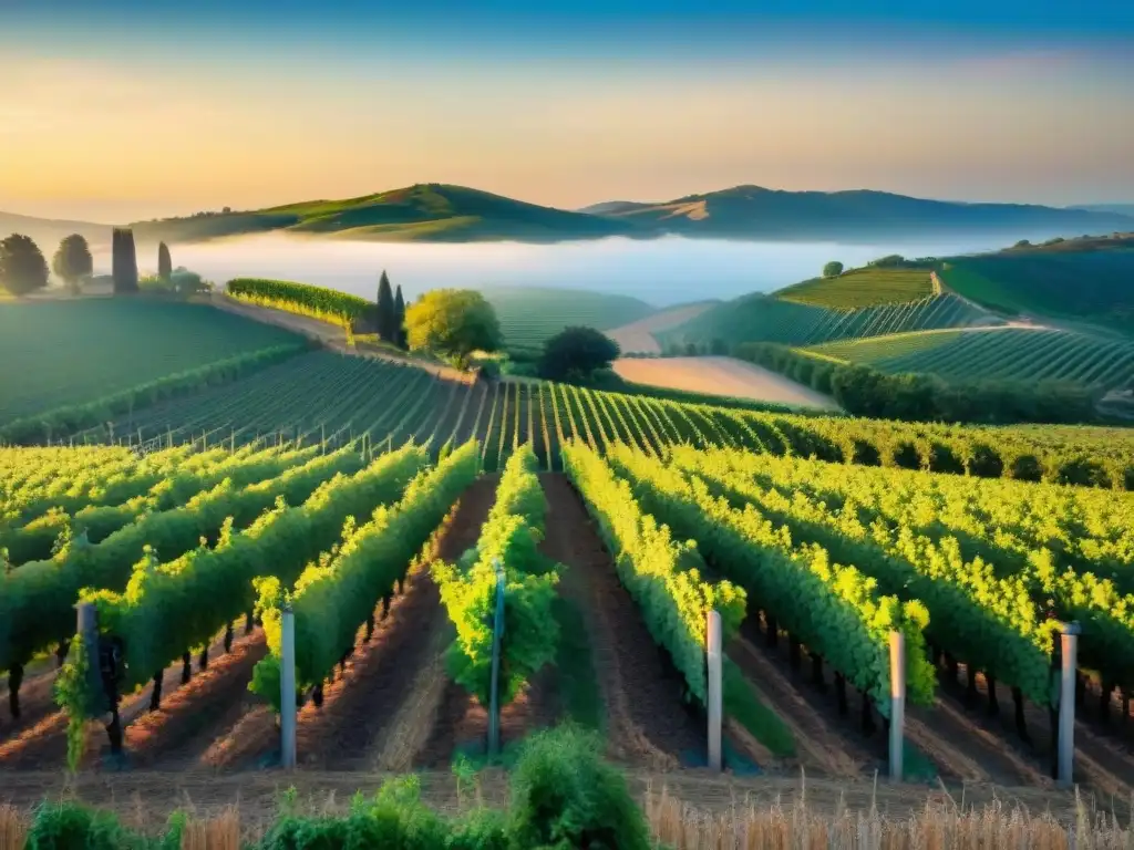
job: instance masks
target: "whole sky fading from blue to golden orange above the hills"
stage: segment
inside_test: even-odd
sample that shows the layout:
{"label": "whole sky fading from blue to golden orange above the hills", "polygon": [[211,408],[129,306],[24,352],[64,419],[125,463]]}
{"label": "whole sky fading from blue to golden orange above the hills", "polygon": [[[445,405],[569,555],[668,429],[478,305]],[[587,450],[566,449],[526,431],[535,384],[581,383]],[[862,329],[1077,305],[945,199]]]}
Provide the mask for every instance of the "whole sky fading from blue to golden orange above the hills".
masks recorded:
{"label": "whole sky fading from blue to golden orange above the hills", "polygon": [[0,210],[53,218],[425,181],[1134,202],[1122,0],[0,0]]}

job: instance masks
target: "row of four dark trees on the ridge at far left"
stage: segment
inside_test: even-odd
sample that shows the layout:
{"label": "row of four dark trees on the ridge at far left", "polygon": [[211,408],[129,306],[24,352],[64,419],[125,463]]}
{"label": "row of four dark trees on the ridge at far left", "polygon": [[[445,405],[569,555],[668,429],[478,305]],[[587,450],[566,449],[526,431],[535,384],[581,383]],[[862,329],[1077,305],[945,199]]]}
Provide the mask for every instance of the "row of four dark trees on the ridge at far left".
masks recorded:
{"label": "row of four dark trees on the ridge at far left", "polygon": [[[112,231],[111,261],[115,292],[138,291],[137,252],[133,230],[116,228]],[[66,284],[68,291],[78,295],[83,283],[94,273],[94,258],[86,238],[79,233],[64,237],[51,260],[51,271]],[[158,277],[168,283],[172,274],[169,247],[161,243],[158,246]],[[0,287],[11,295],[23,296],[44,289],[49,279],[48,262],[34,239],[23,233],[12,233],[0,241]]]}

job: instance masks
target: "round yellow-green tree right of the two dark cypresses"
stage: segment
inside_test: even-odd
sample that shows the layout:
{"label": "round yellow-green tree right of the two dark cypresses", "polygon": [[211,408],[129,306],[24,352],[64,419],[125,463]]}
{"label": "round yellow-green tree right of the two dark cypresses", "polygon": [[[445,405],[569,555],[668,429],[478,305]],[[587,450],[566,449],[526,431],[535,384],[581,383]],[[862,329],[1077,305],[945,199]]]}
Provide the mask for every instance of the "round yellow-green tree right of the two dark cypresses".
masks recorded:
{"label": "round yellow-green tree right of the two dark cypresses", "polygon": [[434,289],[406,308],[409,348],[450,357],[464,366],[473,351],[496,351],[503,342],[496,311],[472,289]]}

